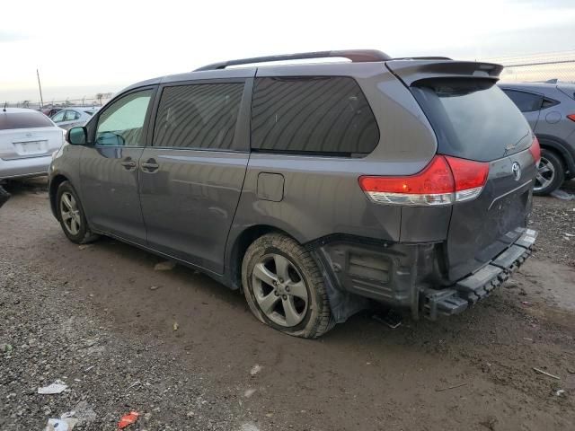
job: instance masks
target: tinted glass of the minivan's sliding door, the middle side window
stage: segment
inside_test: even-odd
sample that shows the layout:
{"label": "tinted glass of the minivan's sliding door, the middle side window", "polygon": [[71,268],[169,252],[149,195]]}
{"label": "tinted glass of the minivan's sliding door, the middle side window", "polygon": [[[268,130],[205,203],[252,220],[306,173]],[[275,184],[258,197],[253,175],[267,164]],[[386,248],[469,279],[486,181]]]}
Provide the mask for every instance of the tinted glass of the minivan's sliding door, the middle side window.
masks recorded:
{"label": "tinted glass of the minivan's sliding door, the middle side window", "polygon": [[154,145],[230,149],[243,84],[165,87],[154,128]]}

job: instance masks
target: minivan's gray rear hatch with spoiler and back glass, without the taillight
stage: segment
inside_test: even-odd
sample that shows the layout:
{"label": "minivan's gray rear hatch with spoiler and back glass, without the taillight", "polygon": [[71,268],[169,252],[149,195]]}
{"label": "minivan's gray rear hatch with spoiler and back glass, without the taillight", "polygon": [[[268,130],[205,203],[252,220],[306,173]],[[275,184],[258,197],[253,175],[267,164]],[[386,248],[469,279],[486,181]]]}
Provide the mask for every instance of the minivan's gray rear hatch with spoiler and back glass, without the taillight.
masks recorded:
{"label": "minivan's gray rear hatch with spoiler and back glass, without the taillight", "polygon": [[482,268],[526,226],[531,208],[534,136],[495,85],[501,66],[455,61],[390,61],[438,139],[438,154],[489,166],[481,194],[452,207],[445,262],[455,281]]}

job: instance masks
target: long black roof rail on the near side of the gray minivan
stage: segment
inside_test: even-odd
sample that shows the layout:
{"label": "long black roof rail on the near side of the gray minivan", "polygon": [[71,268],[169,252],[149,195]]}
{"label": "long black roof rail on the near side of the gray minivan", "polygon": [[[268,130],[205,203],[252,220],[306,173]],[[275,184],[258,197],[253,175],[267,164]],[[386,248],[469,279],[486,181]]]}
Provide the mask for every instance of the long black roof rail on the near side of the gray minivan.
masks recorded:
{"label": "long black roof rail on the near side of the gray minivan", "polygon": [[252,63],[267,63],[269,61],[286,61],[286,60],[305,60],[308,58],[330,58],[330,57],[343,57],[349,58],[353,63],[367,63],[375,61],[390,60],[384,52],[377,49],[345,49],[341,51],[316,51],[316,52],[300,52],[298,54],[285,54],[281,56],[268,56],[268,57],[252,57],[243,58],[239,60],[221,61],[219,63],[212,63],[208,66],[199,67],[194,72],[201,70],[217,70],[225,69],[227,66],[251,65]]}

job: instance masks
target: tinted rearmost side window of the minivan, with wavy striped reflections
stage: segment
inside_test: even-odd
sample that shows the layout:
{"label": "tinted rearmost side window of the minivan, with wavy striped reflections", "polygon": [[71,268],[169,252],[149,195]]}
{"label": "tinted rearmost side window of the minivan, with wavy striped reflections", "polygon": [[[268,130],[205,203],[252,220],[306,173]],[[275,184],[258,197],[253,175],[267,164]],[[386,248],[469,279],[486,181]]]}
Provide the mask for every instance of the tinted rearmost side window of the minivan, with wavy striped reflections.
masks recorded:
{"label": "tinted rearmost side window of the minivan, with wavy striped reflections", "polygon": [[368,154],[378,141],[376,119],[352,78],[256,79],[252,98],[253,149]]}

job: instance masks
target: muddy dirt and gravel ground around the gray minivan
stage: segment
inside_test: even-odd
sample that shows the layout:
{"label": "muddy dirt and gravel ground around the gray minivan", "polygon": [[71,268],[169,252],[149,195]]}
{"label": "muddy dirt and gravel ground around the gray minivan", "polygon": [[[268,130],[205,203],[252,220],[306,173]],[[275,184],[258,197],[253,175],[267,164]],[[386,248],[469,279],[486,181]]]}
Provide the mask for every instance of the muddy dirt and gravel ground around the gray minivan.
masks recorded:
{"label": "muddy dirt and gravel ground around the gray minivan", "polygon": [[[364,312],[312,341],[263,326],[188,268],[155,271],[161,259],[111,239],[68,242],[41,181],[10,191],[2,430],[73,409],[75,430],[98,431],[132,409],[131,430],[575,429],[575,201],[535,198],[535,256],[462,315],[392,330]],[[66,391],[37,393],[57,379]]]}

